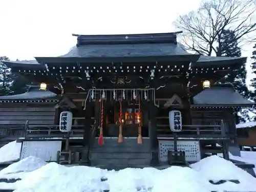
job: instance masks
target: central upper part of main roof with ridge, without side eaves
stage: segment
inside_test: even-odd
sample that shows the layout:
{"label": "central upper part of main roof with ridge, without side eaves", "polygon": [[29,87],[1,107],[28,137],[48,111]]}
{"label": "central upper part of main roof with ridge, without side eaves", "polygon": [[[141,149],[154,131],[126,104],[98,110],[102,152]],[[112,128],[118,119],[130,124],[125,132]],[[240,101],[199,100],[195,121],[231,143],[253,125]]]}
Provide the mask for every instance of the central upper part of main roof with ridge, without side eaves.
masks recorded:
{"label": "central upper part of main roof with ridge, without side eaves", "polygon": [[177,33],[74,36],[77,36],[77,45],[60,57],[191,55],[181,44],[177,44]]}

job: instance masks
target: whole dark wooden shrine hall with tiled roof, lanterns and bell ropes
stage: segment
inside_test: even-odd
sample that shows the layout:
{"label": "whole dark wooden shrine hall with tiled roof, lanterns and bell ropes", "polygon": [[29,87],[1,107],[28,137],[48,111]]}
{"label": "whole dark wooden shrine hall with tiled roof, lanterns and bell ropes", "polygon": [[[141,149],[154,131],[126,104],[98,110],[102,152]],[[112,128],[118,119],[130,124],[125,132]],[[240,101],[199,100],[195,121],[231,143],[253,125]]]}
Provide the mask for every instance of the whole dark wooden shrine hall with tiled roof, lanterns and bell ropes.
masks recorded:
{"label": "whole dark wooden shrine hall with tiled roof, lanterns and bell ropes", "polygon": [[107,167],[171,164],[178,155],[228,159],[237,145],[236,114],[253,103],[218,80],[238,73],[246,58],[189,54],[178,34],[73,34],[77,44],[65,55],[5,61],[58,96],[55,123],[46,125],[55,131],[38,128],[27,147],[40,138],[57,161],[78,154],[73,159]]}

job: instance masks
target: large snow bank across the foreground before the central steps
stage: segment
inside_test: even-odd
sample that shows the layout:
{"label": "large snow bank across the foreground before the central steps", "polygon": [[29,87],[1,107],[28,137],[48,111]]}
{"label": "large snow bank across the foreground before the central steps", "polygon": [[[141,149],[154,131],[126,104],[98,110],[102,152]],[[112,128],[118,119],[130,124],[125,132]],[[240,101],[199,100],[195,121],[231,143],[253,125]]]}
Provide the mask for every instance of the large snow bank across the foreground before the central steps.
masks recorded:
{"label": "large snow bank across the foreground before the central steps", "polygon": [[[101,178],[108,178],[101,182]],[[202,180],[200,174],[188,167],[173,166],[165,170],[155,168],[126,168],[118,172],[95,167],[66,167],[49,163],[16,182],[15,192],[68,192],[102,191],[117,192],[137,190],[152,192],[166,191],[209,191],[211,184]]]}

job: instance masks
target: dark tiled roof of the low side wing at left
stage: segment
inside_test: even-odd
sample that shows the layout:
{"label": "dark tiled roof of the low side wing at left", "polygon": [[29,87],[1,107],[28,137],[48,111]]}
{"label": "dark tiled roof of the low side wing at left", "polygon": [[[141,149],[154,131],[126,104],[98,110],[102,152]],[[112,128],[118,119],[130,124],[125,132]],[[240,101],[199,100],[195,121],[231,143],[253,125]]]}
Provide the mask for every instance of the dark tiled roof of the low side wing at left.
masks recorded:
{"label": "dark tiled roof of the low side wing at left", "polygon": [[57,95],[50,91],[39,90],[38,87],[29,89],[28,92],[18,95],[0,96],[0,100],[57,100]]}

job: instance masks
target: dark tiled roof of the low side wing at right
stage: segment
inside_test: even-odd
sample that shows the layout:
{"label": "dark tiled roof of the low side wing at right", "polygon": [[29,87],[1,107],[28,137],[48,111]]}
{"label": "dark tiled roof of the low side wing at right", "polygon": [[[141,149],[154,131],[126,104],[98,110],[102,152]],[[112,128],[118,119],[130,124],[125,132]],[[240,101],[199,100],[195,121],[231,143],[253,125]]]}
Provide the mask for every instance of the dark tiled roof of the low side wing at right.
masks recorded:
{"label": "dark tiled roof of the low side wing at right", "polygon": [[234,91],[230,84],[216,84],[193,97],[194,105],[242,106],[254,103]]}

